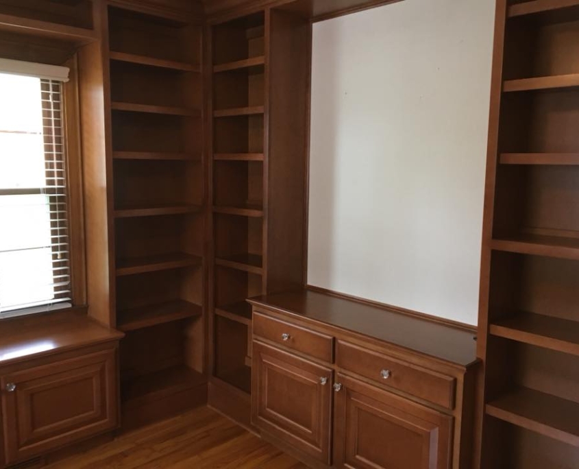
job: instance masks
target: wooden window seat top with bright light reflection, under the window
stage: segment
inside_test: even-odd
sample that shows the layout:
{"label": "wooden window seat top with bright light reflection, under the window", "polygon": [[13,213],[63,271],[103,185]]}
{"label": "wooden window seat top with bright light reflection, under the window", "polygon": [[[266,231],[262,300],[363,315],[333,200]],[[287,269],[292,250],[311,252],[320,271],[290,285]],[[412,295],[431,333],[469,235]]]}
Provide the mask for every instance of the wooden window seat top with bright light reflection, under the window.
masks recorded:
{"label": "wooden window seat top with bright light reflection, under the window", "polygon": [[0,365],[119,340],[124,334],[80,311],[55,312],[0,322]]}

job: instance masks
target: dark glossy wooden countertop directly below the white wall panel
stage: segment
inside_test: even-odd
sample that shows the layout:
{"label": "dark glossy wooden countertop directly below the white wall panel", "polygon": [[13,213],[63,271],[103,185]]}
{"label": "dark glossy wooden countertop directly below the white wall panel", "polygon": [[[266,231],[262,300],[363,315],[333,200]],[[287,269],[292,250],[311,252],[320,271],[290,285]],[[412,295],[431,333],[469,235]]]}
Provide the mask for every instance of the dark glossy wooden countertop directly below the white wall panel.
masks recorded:
{"label": "dark glossy wooden countertop directly below the white wall panel", "polygon": [[247,301],[254,306],[360,333],[455,365],[466,367],[477,360],[475,335],[470,330],[428,317],[310,290],[277,293]]}

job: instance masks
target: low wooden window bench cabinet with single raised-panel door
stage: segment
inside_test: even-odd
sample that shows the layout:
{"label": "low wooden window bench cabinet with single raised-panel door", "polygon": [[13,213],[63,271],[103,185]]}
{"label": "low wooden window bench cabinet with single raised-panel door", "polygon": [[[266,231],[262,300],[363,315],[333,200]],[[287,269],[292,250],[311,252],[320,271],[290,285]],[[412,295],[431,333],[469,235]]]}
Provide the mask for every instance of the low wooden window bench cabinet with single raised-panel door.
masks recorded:
{"label": "low wooden window bench cabinet with single raised-panel door", "polygon": [[119,426],[122,337],[84,308],[3,321],[1,467]]}

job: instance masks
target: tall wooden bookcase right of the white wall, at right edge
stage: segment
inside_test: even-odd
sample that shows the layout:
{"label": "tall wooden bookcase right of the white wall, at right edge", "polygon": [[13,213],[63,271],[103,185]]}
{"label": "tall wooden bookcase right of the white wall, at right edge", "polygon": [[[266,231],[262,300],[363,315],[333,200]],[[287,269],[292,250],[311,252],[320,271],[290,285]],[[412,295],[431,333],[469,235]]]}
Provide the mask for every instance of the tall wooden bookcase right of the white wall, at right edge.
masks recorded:
{"label": "tall wooden bookcase right of the white wall, at right edge", "polygon": [[574,467],[579,0],[500,0],[496,41],[478,340],[481,467]]}

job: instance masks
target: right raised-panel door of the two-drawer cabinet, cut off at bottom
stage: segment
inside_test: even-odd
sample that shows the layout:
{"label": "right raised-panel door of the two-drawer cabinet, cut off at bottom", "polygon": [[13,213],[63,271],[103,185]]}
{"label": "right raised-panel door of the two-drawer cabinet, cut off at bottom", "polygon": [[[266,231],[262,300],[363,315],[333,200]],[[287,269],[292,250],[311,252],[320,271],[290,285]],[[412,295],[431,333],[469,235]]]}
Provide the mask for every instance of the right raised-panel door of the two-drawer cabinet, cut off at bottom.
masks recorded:
{"label": "right raised-panel door of the two-drawer cabinet, cut off at bottom", "polygon": [[336,468],[450,467],[452,417],[339,374],[335,389]]}

